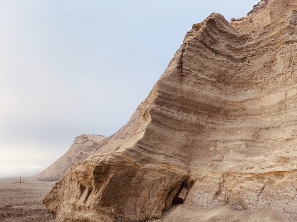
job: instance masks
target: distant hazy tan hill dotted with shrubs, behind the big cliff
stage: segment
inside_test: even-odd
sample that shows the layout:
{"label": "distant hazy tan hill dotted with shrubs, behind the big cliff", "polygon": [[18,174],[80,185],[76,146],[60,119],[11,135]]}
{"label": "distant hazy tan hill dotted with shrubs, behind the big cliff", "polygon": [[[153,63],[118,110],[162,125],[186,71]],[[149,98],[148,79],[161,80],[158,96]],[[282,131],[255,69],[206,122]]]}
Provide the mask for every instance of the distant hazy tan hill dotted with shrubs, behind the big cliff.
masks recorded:
{"label": "distant hazy tan hill dotted with shrubs, behind the big cliff", "polygon": [[61,176],[71,165],[85,160],[103,139],[105,136],[89,134],[76,137],[69,150],[37,176]]}

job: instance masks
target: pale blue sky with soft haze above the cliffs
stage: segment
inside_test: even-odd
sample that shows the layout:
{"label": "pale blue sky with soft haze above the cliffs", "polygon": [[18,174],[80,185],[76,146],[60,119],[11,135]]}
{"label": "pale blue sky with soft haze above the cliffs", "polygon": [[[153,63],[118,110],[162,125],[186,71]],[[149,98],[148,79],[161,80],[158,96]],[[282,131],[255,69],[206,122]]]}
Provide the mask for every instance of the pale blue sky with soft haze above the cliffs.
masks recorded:
{"label": "pale blue sky with soft haze above the cliffs", "polygon": [[0,178],[40,172],[82,133],[115,133],[192,24],[257,2],[0,0]]}

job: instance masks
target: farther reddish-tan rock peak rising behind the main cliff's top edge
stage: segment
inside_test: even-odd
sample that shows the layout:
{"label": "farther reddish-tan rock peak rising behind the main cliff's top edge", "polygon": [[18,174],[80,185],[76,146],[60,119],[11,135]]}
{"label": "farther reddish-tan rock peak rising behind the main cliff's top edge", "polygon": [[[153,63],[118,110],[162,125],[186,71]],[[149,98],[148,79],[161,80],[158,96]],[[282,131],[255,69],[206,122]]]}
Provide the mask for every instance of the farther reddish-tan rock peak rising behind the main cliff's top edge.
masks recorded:
{"label": "farther reddish-tan rock peak rising behind the main cliff's top edge", "polygon": [[254,5],[247,16],[231,19],[230,25],[241,32],[253,33],[275,21],[281,15],[297,9],[296,0],[264,0]]}

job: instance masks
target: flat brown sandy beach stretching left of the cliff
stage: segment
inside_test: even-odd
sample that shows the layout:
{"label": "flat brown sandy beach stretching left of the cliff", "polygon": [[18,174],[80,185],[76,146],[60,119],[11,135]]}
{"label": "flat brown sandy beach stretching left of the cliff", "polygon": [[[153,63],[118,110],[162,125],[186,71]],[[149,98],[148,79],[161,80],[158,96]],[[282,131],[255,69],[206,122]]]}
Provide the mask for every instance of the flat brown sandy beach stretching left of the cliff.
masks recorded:
{"label": "flat brown sandy beach stretching left of the cliff", "polygon": [[45,206],[42,198],[58,180],[57,177],[0,178],[0,222],[60,222]]}

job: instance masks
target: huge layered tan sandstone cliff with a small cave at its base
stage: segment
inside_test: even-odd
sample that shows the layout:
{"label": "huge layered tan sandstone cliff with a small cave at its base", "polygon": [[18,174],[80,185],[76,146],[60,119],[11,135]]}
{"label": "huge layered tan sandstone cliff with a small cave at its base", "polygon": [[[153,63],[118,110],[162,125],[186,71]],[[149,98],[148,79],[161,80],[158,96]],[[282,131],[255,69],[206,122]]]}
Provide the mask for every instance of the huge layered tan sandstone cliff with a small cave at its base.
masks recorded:
{"label": "huge layered tan sandstone cliff with a small cave at its base", "polygon": [[192,26],[128,123],[44,197],[53,216],[297,221],[297,1],[230,24]]}

